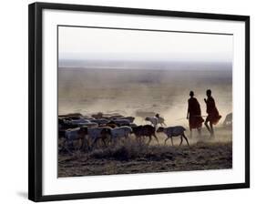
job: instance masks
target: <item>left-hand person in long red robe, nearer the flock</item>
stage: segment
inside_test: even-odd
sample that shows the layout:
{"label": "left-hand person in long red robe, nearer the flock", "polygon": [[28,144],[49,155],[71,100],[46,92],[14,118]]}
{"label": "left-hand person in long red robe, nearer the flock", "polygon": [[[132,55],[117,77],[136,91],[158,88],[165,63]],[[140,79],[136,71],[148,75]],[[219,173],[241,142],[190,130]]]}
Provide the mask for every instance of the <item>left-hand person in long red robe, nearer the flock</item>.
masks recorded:
{"label": "left-hand person in long red robe, nearer the flock", "polygon": [[200,103],[197,98],[194,97],[194,92],[190,91],[189,96],[187,119],[189,119],[190,138],[192,138],[192,129],[194,128],[198,129],[199,135],[201,134],[201,126],[204,119],[201,117]]}

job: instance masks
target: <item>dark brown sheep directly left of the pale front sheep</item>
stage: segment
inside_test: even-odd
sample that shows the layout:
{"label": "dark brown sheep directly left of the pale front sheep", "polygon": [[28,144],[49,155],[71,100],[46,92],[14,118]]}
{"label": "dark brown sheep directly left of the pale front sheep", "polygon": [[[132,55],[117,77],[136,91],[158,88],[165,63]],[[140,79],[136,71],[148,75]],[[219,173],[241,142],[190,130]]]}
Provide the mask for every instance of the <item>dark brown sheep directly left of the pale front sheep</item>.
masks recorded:
{"label": "dark brown sheep directly left of the pale front sheep", "polygon": [[148,137],[148,144],[150,143],[152,136],[154,138],[156,138],[156,140],[159,143],[159,139],[157,138],[155,131],[156,128],[152,127],[150,125],[145,125],[145,126],[138,126],[138,127],[133,127],[132,128],[134,135],[136,136],[136,138],[142,138],[142,137]]}

